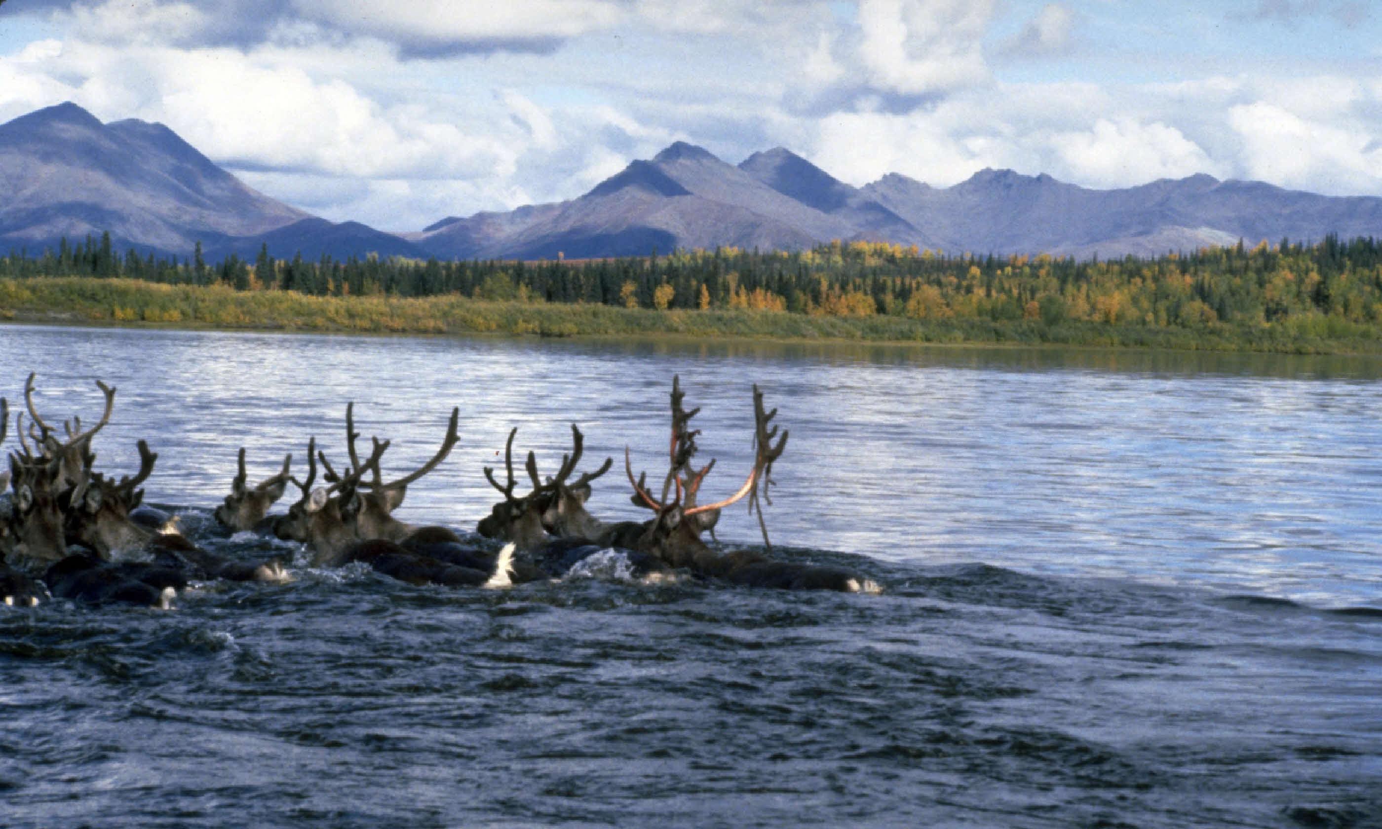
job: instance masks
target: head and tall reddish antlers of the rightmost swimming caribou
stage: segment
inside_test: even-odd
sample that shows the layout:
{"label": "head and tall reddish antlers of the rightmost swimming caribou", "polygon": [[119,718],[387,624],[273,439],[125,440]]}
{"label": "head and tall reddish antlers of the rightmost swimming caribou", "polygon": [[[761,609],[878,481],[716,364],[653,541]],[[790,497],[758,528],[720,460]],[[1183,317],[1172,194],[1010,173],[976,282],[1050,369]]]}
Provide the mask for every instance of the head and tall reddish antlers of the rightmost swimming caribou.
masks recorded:
{"label": "head and tall reddish antlers of the rightmost swimming caribou", "polygon": [[[701,540],[701,533],[710,529],[719,520],[719,511],[724,507],[749,497],[749,508],[759,510],[759,526],[763,528],[763,540],[767,544],[767,526],[763,524],[760,492],[767,500],[767,489],[773,484],[773,461],[777,460],[786,448],[788,432],[777,438],[778,428],[770,427],[770,421],[777,416],[777,409],[766,412],[763,409],[763,392],[753,387],[753,417],[755,417],[755,460],[753,470],[738,492],[724,500],[710,504],[698,504],[701,485],[706,475],[714,468],[714,460],[699,470],[691,466],[691,459],[697,453],[695,437],[699,430],[690,428],[691,419],[701,409],[687,412],[681,406],[685,394],[681,391],[680,379],[672,379],[672,441],[670,441],[670,468],[662,484],[661,497],[654,497],[648,492],[645,475],[637,479],[633,477],[633,463],[629,450],[625,449],[625,471],[633,485],[634,500],[656,513],[643,535],[638,537],[636,549],[656,555],[670,566],[685,566],[699,572],[719,575],[726,569],[727,562]],[[771,502],[768,502],[771,503]],[[726,557],[728,558],[728,557]]]}

